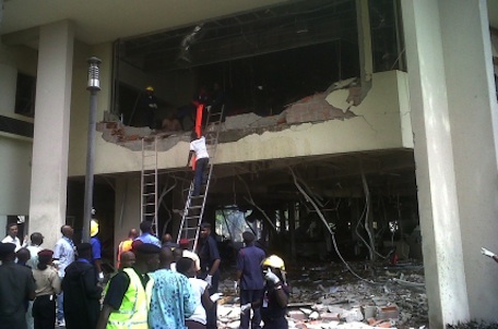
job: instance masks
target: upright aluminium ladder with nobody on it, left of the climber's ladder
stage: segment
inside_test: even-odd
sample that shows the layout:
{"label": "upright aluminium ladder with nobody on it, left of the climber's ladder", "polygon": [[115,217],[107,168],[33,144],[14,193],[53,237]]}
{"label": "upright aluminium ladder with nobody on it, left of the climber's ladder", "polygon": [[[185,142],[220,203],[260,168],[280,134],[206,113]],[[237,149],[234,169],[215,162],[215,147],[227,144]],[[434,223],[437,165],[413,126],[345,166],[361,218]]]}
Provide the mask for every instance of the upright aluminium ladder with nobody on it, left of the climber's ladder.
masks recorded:
{"label": "upright aluminium ladder with nobody on it, left of the climber's ladder", "polygon": [[141,221],[157,223],[157,136],[142,137]]}

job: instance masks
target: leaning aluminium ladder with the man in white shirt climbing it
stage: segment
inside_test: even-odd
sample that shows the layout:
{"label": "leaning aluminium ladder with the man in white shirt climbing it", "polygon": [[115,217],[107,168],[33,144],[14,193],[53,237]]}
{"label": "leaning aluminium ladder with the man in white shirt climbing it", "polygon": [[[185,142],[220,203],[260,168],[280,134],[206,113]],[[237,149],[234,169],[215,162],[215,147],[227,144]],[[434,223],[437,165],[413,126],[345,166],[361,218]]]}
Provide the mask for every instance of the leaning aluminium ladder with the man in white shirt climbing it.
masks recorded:
{"label": "leaning aluminium ladder with the man in white shirt climbing it", "polygon": [[[187,202],[185,204],[183,211],[181,212],[181,222],[179,227],[179,233],[177,243],[180,239],[188,239],[191,251],[195,251],[200,226],[202,222],[202,216],[204,215],[205,199],[208,197],[208,191],[210,188],[211,178],[213,173],[213,162],[216,157],[216,148],[218,144],[220,130],[223,121],[223,111],[225,106],[222,106],[220,110],[213,108],[208,109],[206,123],[204,129],[205,146],[208,154],[210,155],[210,161],[206,168],[206,183],[201,186],[201,192],[198,196],[192,196],[193,193],[193,180],[190,183],[188,190]],[[192,243],[193,242],[193,243]]]}

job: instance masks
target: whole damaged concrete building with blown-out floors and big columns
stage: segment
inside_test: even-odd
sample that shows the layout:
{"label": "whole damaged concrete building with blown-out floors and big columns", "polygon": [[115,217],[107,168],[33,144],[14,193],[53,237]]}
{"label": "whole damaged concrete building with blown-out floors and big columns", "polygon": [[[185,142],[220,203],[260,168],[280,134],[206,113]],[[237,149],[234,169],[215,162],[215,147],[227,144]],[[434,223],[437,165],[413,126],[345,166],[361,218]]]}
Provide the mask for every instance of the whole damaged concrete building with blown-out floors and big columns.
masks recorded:
{"label": "whole damaged concrete building with blown-out floors and big columns", "polygon": [[[183,114],[205,88],[223,95],[224,115],[206,126],[216,153],[202,220],[224,266],[248,229],[296,269],[423,261],[430,326],[497,319],[496,264],[481,255],[498,252],[493,1],[0,4],[0,224],[40,231],[47,247],[63,223],[84,236],[92,149],[111,268],[144,219],[153,153],[156,232],[178,237],[193,178]],[[102,63],[88,145],[92,56]],[[163,124],[171,119],[179,127]],[[333,297],[321,290],[321,303]]]}

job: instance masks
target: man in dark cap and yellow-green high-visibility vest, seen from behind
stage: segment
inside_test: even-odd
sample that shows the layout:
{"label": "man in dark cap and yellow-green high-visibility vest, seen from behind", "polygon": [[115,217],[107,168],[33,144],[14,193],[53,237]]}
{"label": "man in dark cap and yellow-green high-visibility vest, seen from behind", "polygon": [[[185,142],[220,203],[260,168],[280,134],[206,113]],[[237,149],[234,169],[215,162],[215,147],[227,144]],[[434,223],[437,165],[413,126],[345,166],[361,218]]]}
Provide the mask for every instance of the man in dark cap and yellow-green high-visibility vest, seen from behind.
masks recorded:
{"label": "man in dark cap and yellow-green high-visibility vest, seen from behind", "polygon": [[147,329],[147,312],[154,283],[147,273],[157,269],[161,248],[143,243],[135,252],[134,266],[123,268],[109,281],[97,329]]}

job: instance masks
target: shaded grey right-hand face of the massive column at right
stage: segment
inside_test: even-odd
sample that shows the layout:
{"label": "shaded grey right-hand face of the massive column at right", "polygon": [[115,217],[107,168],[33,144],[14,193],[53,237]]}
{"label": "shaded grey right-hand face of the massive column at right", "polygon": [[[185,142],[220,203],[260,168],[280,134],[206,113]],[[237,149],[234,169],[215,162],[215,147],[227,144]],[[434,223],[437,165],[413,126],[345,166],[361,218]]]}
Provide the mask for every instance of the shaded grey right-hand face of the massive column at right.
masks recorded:
{"label": "shaded grey right-hand face of the massive column at right", "polygon": [[470,318],[496,322],[497,100],[486,1],[439,0]]}

